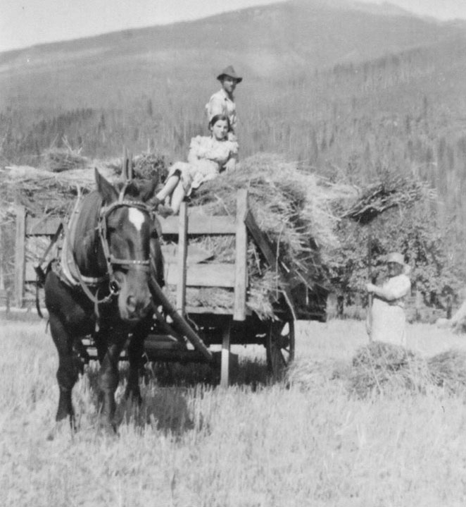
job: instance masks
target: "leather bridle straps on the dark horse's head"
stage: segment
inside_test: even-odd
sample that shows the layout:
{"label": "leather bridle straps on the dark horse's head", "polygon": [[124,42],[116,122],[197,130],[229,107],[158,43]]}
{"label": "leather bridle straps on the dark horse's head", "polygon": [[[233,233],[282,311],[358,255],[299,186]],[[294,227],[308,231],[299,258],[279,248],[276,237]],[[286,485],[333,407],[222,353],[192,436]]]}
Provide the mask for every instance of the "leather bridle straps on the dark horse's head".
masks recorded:
{"label": "leather bridle straps on the dark horse's head", "polygon": [[99,214],[99,221],[97,224],[97,231],[99,232],[99,238],[101,240],[101,245],[103,248],[103,255],[105,256],[107,264],[109,278],[108,288],[110,289],[112,295],[118,295],[118,293],[120,293],[120,283],[118,283],[118,281],[115,279],[114,274],[115,266],[120,266],[123,268],[127,267],[127,269],[129,269],[131,266],[133,269],[147,272],[149,272],[150,269],[149,257],[147,259],[118,259],[117,257],[114,257],[110,251],[110,246],[108,245],[107,239],[107,218],[113,211],[115,211],[115,209],[120,207],[135,208],[146,214],[149,219],[151,217],[151,211],[149,207],[144,204],[144,202],[124,200],[124,191],[125,189],[123,189],[120,193],[118,201],[112,202],[111,204],[108,204],[108,206],[105,206],[101,209]]}

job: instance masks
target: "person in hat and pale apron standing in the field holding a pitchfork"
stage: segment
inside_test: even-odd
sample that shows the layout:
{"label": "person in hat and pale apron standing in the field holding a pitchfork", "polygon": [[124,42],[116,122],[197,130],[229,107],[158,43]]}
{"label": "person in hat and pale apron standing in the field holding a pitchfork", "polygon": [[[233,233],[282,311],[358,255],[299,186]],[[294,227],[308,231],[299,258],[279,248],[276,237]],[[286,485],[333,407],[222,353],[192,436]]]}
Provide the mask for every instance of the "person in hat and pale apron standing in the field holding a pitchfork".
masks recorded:
{"label": "person in hat and pale apron standing in the field holding a pitchfork", "polygon": [[406,346],[405,298],[411,291],[410,267],[397,252],[386,256],[388,278],[382,287],[367,283],[367,292],[374,295],[367,314],[367,334],[372,341],[385,341]]}

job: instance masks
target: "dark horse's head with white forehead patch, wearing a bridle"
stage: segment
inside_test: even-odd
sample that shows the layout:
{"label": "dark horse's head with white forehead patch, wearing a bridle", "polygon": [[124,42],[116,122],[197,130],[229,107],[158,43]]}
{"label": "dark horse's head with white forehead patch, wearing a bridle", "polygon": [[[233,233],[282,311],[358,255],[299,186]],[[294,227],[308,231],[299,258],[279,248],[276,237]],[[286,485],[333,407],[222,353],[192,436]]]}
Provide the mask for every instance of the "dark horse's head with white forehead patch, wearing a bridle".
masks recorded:
{"label": "dark horse's head with white forehead patch, wearing a bridle", "polygon": [[155,183],[130,181],[115,187],[96,170],[96,184],[102,202],[97,230],[109,289],[118,297],[120,318],[136,323],[151,306],[150,252],[156,231],[145,202]]}

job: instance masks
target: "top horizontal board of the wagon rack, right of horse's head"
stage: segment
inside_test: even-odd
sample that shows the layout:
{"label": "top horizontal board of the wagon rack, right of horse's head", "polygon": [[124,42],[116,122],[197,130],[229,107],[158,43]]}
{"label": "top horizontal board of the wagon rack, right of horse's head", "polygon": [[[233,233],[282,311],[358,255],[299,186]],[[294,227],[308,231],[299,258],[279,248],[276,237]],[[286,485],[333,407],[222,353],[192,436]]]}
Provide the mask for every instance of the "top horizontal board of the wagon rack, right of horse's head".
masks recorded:
{"label": "top horizontal board of the wagon rack, right of horse's head", "polygon": [[[189,226],[188,234],[234,234],[236,233],[236,224],[230,216],[208,216],[199,213],[188,213]],[[178,234],[178,217],[167,216],[163,218],[158,216],[163,234]]]}

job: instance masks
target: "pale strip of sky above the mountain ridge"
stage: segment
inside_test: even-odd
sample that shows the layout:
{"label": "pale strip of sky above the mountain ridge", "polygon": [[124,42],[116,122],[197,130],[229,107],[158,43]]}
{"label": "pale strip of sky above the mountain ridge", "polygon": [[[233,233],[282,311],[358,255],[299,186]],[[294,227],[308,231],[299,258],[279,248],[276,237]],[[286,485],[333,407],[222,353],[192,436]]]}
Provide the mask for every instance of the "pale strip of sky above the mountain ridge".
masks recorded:
{"label": "pale strip of sky above the mountain ridge", "polygon": [[[0,0],[0,51],[205,18],[277,1],[281,0]],[[391,0],[390,3],[442,20],[466,18],[466,0]]]}

